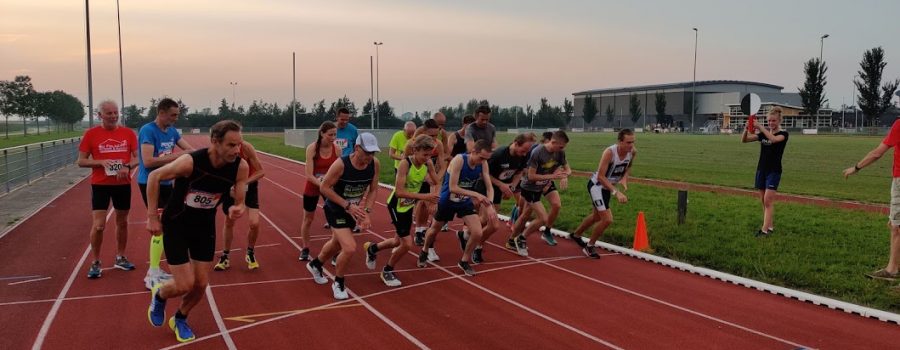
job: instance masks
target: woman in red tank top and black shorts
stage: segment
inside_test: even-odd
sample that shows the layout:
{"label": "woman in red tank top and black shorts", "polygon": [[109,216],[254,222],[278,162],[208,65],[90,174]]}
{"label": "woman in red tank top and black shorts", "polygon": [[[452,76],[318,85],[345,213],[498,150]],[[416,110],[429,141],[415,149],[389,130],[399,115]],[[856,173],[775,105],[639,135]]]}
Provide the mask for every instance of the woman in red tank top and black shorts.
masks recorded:
{"label": "woman in red tank top and black shorts", "polygon": [[319,126],[316,142],[306,146],[306,187],[303,189],[303,222],[300,224],[300,260],[309,260],[309,226],[312,225],[319,204],[319,185],[331,163],[340,159],[340,152],[334,145],[337,138],[337,126],[332,122],[324,122]]}

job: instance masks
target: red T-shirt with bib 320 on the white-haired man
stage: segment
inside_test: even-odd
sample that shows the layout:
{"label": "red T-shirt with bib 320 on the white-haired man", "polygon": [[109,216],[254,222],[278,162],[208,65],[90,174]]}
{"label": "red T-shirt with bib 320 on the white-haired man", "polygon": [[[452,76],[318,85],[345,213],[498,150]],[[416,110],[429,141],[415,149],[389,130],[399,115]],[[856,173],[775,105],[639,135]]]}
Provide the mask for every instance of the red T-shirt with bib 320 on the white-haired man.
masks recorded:
{"label": "red T-shirt with bib 320 on the white-haired man", "polygon": [[98,125],[84,132],[78,150],[90,154],[95,160],[118,161],[109,168],[91,168],[91,184],[127,185],[131,183],[131,177],[119,180],[116,172],[131,161],[131,152],[136,152],[137,147],[137,135],[133,130],[124,126],[106,130]]}

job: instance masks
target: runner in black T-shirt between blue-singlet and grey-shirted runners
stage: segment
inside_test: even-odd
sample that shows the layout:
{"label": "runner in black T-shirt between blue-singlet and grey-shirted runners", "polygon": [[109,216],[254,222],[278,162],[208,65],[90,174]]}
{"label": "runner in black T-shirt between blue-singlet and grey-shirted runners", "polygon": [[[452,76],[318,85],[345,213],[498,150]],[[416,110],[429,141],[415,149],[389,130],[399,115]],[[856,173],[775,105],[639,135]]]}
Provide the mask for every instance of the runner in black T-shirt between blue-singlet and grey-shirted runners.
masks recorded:
{"label": "runner in black T-shirt between blue-singlet and grey-shirted runners", "polygon": [[[480,264],[484,261],[482,244],[487,242],[491,235],[500,228],[500,219],[495,208],[499,207],[504,199],[515,199],[516,197],[514,191],[518,187],[519,179],[522,177],[522,170],[525,169],[527,164],[526,156],[528,151],[531,150],[531,146],[534,143],[535,136],[533,133],[519,134],[509,145],[494,150],[494,153],[491,154],[491,158],[488,160],[488,173],[491,177],[491,187],[494,189],[492,201],[494,205],[478,206],[483,232],[481,241],[478,242],[472,253],[472,262],[475,264]],[[484,183],[479,182],[479,185],[484,186]],[[484,193],[485,189],[482,188],[477,192]],[[456,235],[460,244],[465,246],[466,241],[469,239],[467,230],[457,231]]]}

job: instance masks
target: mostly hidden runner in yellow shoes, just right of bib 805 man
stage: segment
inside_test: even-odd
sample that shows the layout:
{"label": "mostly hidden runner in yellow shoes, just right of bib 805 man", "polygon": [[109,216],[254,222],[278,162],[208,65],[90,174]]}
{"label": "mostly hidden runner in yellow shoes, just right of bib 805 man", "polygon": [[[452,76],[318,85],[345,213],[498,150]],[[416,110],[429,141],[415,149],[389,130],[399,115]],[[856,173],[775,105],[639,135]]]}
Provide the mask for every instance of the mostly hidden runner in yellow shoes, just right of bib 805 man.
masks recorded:
{"label": "mostly hidden runner in yellow shoes, just right of bib 805 man", "polygon": [[[239,157],[250,165],[250,173],[247,178],[247,194],[244,198],[244,204],[247,206],[247,220],[250,224],[250,228],[247,231],[247,255],[244,256],[244,261],[247,262],[248,269],[256,270],[259,268],[259,261],[256,260],[256,252],[253,250],[253,247],[256,245],[257,237],[259,237],[259,179],[262,179],[266,174],[259,157],[256,156],[256,149],[249,142],[241,142]],[[231,251],[231,242],[234,240],[234,220],[228,217],[228,210],[232,205],[234,205],[234,197],[230,193],[226,193],[225,197],[222,198],[222,212],[225,213],[225,227],[222,229],[222,234],[225,236],[225,247],[222,249],[222,256],[219,257],[219,262],[214,267],[216,271],[224,271],[231,266],[228,260],[228,253]]]}

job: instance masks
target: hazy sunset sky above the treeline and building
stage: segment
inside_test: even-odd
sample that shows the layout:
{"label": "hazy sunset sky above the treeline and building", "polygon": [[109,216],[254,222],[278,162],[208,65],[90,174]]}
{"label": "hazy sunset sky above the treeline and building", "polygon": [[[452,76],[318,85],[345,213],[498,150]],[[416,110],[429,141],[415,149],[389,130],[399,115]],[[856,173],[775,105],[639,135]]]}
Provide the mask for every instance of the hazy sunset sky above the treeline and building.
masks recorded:
{"label": "hazy sunset sky above the treeline and building", "polygon": [[[125,104],[222,98],[362,107],[378,48],[379,99],[396,114],[455,106],[561,105],[577,91],[691,81],[802,86],[822,52],[826,98],[851,104],[863,52],[881,46],[900,77],[898,1],[120,1]],[[120,100],[115,0],[90,1],[93,100]],[[0,0],[0,80],[87,104],[85,4]],[[236,85],[231,85],[236,82]]]}

